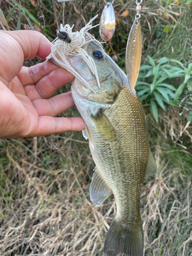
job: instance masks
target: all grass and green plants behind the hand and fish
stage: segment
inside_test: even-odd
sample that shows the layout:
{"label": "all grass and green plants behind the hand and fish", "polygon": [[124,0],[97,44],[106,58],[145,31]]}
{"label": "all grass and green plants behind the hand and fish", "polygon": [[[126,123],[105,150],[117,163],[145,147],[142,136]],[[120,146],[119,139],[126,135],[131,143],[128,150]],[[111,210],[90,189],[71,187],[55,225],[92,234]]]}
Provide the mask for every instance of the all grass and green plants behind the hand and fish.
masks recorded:
{"label": "all grass and green plants behind the hand and fish", "polygon": [[[50,40],[51,0],[1,0],[4,30],[35,29]],[[116,0],[116,33],[106,52],[125,69],[135,2]],[[56,3],[59,24],[82,28],[103,1]],[[64,13],[64,16],[63,16]],[[95,23],[99,23],[99,17]],[[144,105],[157,174],[141,189],[144,255],[192,255],[192,7],[191,0],[142,3],[142,67],[136,89]],[[91,31],[97,39],[98,29]],[[148,56],[148,57],[147,57]],[[26,60],[31,66],[41,60]],[[70,84],[58,90],[70,90]],[[62,116],[78,116],[76,108]],[[0,140],[0,255],[103,255],[116,214],[113,196],[101,207],[89,198],[93,174],[80,132]]]}

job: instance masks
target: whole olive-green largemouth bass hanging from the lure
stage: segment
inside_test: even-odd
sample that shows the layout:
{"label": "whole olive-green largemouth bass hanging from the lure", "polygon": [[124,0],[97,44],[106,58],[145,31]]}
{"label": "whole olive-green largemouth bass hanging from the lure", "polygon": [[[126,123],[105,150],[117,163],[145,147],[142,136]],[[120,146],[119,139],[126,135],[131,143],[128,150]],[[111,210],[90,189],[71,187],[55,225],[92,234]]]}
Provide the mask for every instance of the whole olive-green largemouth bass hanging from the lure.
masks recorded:
{"label": "whole olive-green largemouth bass hanging from the lure", "polygon": [[[145,114],[127,76],[103,50],[100,42],[84,35],[83,52],[96,67],[97,78],[82,55],[66,55],[79,78],[72,96],[81,114],[95,162],[90,198],[96,205],[113,193],[117,214],[104,243],[105,256],[143,255],[140,190],[145,174],[156,169],[147,140]],[[73,41],[73,40],[72,40]],[[55,48],[56,49],[56,48]],[[52,51],[52,61],[62,67],[62,47]],[[50,56],[51,57],[51,56]],[[58,61],[57,61],[58,60]]]}

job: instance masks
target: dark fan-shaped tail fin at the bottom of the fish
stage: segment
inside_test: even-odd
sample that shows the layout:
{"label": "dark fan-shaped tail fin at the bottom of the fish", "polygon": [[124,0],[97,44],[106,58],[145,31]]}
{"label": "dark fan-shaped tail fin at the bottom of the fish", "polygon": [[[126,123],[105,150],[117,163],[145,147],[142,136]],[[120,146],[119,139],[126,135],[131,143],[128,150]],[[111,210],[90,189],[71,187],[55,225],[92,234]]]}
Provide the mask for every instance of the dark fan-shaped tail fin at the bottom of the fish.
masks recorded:
{"label": "dark fan-shaped tail fin at the bottom of the fish", "polygon": [[142,223],[138,230],[123,228],[116,220],[112,221],[104,242],[105,256],[142,256],[143,230]]}

